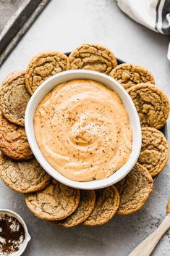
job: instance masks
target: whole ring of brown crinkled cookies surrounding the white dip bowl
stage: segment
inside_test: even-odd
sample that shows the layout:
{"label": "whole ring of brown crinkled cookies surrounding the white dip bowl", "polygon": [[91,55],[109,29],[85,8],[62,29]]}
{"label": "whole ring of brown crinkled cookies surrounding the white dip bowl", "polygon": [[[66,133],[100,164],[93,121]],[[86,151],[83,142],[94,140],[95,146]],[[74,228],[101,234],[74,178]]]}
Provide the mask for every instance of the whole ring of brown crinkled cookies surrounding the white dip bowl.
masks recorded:
{"label": "whole ring of brown crinkled cookies surrounding the white dip bowl", "polygon": [[[52,179],[33,157],[24,128],[25,108],[36,88],[64,70],[95,70],[118,80],[127,89],[142,125],[142,149],[131,172],[115,186],[96,191],[72,189]],[[27,207],[59,226],[103,225],[117,213],[140,210],[169,158],[161,129],[169,115],[169,101],[153,75],[138,65],[118,65],[104,46],[84,44],[69,54],[38,54],[26,71],[9,75],[0,88],[0,176],[14,191],[26,194]]]}

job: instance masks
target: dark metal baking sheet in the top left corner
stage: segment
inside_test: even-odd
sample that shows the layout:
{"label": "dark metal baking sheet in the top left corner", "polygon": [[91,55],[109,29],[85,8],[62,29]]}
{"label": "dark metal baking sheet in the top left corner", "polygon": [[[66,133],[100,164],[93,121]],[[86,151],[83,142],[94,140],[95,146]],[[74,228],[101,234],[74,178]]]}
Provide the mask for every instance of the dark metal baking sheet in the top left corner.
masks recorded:
{"label": "dark metal baking sheet in the top left corner", "polygon": [[50,0],[0,0],[0,66]]}

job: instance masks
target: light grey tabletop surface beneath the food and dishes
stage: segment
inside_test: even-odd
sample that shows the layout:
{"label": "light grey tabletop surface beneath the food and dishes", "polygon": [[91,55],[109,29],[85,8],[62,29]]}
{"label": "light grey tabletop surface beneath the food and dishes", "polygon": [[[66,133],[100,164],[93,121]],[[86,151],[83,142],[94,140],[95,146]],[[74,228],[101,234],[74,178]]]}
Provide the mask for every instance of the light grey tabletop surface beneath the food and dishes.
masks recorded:
{"label": "light grey tabletop surface beneath the food and dishes", "polygon": [[[116,57],[147,67],[170,99],[170,64],[166,59],[170,38],[133,22],[114,0],[52,0],[14,49],[0,70],[0,82],[25,69],[40,51],[72,51],[84,42],[108,46]],[[170,134],[170,123],[169,134]],[[25,256],[127,256],[163,220],[170,197],[170,170],[156,180],[145,207],[131,216],[116,216],[104,226],[64,229],[35,218],[24,197],[0,183],[0,207],[22,215],[32,240]],[[154,256],[170,255],[170,233],[161,239]]]}

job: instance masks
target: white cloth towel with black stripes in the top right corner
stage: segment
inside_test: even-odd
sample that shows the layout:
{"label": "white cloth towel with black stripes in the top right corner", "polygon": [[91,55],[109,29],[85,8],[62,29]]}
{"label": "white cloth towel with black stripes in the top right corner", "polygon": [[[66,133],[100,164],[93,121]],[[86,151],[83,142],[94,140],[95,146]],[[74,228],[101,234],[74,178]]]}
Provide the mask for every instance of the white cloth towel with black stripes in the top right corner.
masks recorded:
{"label": "white cloth towel with black stripes in the top right corner", "polygon": [[[133,20],[158,33],[170,35],[170,0],[116,0]],[[168,51],[170,60],[170,44]]]}

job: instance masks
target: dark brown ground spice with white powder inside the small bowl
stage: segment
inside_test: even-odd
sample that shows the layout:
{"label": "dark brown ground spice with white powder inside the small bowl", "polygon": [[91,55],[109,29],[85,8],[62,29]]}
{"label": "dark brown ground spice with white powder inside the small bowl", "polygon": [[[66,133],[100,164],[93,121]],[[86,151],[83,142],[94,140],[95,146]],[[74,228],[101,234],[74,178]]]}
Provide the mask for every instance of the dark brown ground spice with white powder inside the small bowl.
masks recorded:
{"label": "dark brown ground spice with white powder inside the small bowl", "polygon": [[17,218],[0,215],[0,256],[9,256],[20,249],[25,240],[25,230]]}

